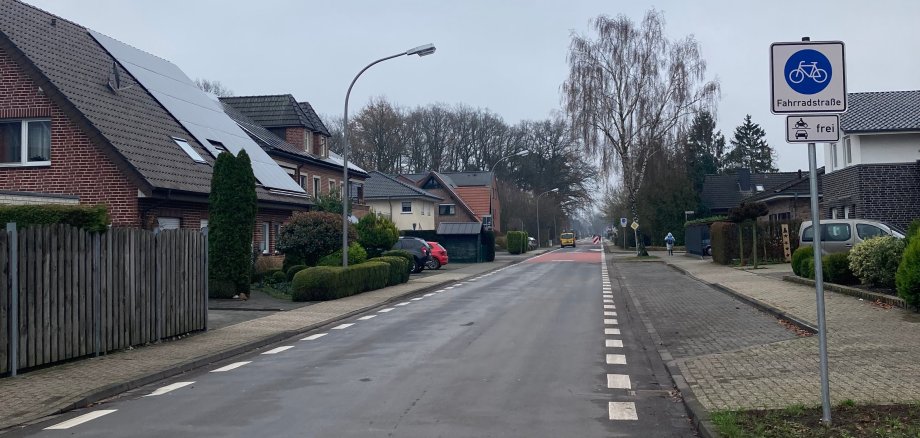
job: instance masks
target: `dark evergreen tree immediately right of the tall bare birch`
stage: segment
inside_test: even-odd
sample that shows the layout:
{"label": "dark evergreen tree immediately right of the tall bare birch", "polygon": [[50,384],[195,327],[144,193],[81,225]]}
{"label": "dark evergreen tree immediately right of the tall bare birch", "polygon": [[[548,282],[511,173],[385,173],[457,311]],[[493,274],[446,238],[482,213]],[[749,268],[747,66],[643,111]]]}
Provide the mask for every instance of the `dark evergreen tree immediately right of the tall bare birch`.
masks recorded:
{"label": "dark evergreen tree immediately right of the tall bare birch", "polygon": [[693,190],[703,191],[706,175],[718,173],[725,153],[725,136],[716,131],[716,121],[709,111],[702,111],[693,119],[684,145],[687,160],[687,176],[693,182]]}

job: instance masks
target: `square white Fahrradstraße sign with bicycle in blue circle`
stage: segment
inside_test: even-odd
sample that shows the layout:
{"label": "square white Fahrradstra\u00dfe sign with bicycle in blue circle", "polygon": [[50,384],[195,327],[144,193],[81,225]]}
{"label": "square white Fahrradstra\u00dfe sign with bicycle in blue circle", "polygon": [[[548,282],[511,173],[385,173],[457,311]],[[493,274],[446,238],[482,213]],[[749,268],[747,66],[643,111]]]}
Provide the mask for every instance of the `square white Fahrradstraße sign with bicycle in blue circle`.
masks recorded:
{"label": "square white Fahrradstra\u00dfe sign with bicycle in blue circle", "polygon": [[846,112],[846,82],[841,41],[770,45],[770,110],[774,114]]}

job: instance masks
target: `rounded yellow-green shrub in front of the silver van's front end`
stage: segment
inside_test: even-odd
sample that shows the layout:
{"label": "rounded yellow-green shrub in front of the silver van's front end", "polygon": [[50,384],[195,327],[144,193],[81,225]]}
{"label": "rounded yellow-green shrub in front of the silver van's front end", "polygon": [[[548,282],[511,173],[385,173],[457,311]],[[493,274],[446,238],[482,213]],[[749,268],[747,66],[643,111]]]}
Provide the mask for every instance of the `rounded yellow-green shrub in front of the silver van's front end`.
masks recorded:
{"label": "rounded yellow-green shrub in front of the silver van's front end", "polygon": [[893,288],[904,241],[893,236],[865,240],[850,251],[850,269],[866,285]]}

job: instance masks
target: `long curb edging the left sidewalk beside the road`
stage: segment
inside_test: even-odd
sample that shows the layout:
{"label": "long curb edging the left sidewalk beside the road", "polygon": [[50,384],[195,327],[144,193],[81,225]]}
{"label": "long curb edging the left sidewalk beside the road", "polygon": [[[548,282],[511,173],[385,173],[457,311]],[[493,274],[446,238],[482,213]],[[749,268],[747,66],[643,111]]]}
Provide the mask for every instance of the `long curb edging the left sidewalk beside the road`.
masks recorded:
{"label": "long curb edging the left sidewalk beside the road", "polygon": [[[540,255],[543,255],[543,254],[546,254],[546,253],[548,253],[548,252],[550,252],[550,251],[546,251],[546,252],[543,252],[543,253],[540,253],[540,254],[533,254],[533,255],[531,255],[531,256],[529,256],[529,257],[527,257],[527,258],[524,258],[524,259],[514,260],[514,261],[511,261],[511,262],[509,262],[509,263],[507,263],[507,264],[505,264],[505,265],[503,265],[503,266],[498,266],[498,267],[495,267],[495,268],[493,268],[493,269],[489,269],[489,270],[487,270],[487,271],[483,271],[483,272],[481,272],[481,273],[479,273],[479,274],[476,274],[476,275],[481,275],[481,274],[485,274],[485,273],[488,273],[488,272],[493,272],[493,271],[496,271],[496,270],[498,270],[498,269],[502,269],[502,268],[505,268],[505,267],[508,267],[508,266],[516,265],[516,264],[521,263],[521,262],[523,262],[523,261],[525,261],[525,260],[528,260],[528,259],[530,259],[530,258],[533,258],[533,257],[536,257],[536,256],[540,256]],[[475,276],[475,275],[470,275],[469,277],[473,277],[473,276]],[[60,414],[66,413],[66,412],[68,412],[68,411],[72,411],[72,410],[74,410],[74,409],[80,409],[80,408],[88,407],[88,406],[93,405],[93,404],[95,404],[95,403],[99,403],[99,402],[101,402],[101,401],[103,401],[103,400],[107,400],[107,399],[113,398],[113,397],[115,397],[115,396],[118,396],[118,395],[120,395],[120,394],[123,394],[123,393],[125,393],[125,392],[127,392],[127,391],[130,391],[130,390],[132,390],[132,389],[137,389],[137,388],[140,388],[140,387],[143,387],[143,386],[146,386],[146,385],[155,383],[155,382],[160,381],[160,380],[168,379],[168,378],[170,378],[170,377],[174,377],[174,376],[177,376],[177,375],[180,375],[180,374],[183,374],[183,373],[187,373],[187,372],[189,372],[189,371],[194,371],[194,370],[196,370],[196,369],[198,369],[198,368],[202,368],[202,367],[207,366],[207,365],[210,365],[210,364],[212,364],[212,363],[220,362],[220,361],[229,359],[229,358],[234,357],[234,356],[239,356],[239,355],[248,353],[248,352],[250,352],[250,351],[256,350],[256,349],[258,349],[258,348],[264,347],[264,346],[266,346],[266,345],[271,345],[271,344],[274,344],[274,343],[278,343],[278,342],[284,341],[285,339],[289,339],[289,338],[292,338],[292,337],[295,337],[295,336],[301,336],[301,335],[303,335],[304,333],[307,333],[307,332],[316,330],[316,329],[321,328],[321,327],[323,327],[323,326],[331,325],[331,324],[334,324],[334,323],[336,323],[336,322],[339,322],[339,321],[342,321],[342,320],[351,318],[351,317],[353,317],[353,316],[355,316],[355,315],[359,315],[359,314],[361,314],[361,313],[367,312],[367,311],[369,311],[369,310],[372,310],[372,309],[375,309],[375,308],[378,308],[378,307],[384,307],[384,306],[386,306],[386,305],[388,305],[388,304],[390,304],[390,303],[392,303],[392,302],[400,301],[400,300],[402,300],[402,299],[404,299],[404,298],[406,298],[406,297],[413,296],[413,295],[417,295],[417,294],[426,293],[426,292],[429,292],[429,291],[431,291],[431,290],[435,290],[435,289],[438,289],[438,288],[441,288],[441,287],[444,287],[444,286],[447,286],[447,285],[456,283],[456,282],[458,282],[458,281],[463,281],[463,280],[446,280],[446,281],[443,281],[443,282],[440,282],[440,283],[437,283],[437,284],[432,284],[432,285],[430,285],[430,286],[426,286],[426,287],[423,287],[423,288],[420,288],[420,289],[417,289],[417,290],[413,290],[413,291],[406,292],[406,293],[404,293],[404,294],[402,294],[402,295],[390,297],[390,298],[386,299],[385,301],[383,301],[383,302],[381,302],[381,303],[374,304],[374,305],[371,305],[371,306],[367,306],[367,307],[364,307],[364,308],[361,308],[361,309],[358,309],[358,310],[354,310],[354,311],[348,312],[348,313],[343,314],[343,315],[334,316],[334,317],[329,318],[329,319],[327,319],[327,320],[325,320],[325,321],[322,321],[322,322],[319,322],[319,323],[315,323],[315,324],[311,324],[311,325],[309,325],[309,326],[305,326],[305,327],[300,328],[300,329],[296,329],[296,330],[286,330],[286,331],[284,331],[284,332],[280,332],[280,333],[276,333],[276,334],[273,334],[273,335],[269,335],[269,336],[266,337],[266,338],[259,339],[259,340],[256,340],[256,341],[247,342],[247,343],[245,343],[245,344],[238,345],[238,346],[235,346],[235,347],[232,347],[232,348],[228,348],[228,349],[226,349],[226,350],[223,350],[223,351],[220,351],[220,352],[217,352],[217,353],[214,353],[214,354],[210,354],[210,355],[203,356],[203,357],[199,357],[199,358],[197,358],[197,359],[193,359],[193,360],[190,360],[190,361],[187,361],[187,362],[183,362],[183,363],[180,363],[180,364],[177,364],[177,365],[173,365],[173,366],[170,366],[170,367],[168,367],[168,368],[166,368],[166,369],[164,369],[164,370],[160,370],[160,371],[156,371],[156,372],[153,372],[153,373],[149,373],[149,374],[147,374],[147,375],[144,375],[144,376],[141,376],[141,377],[137,377],[137,378],[135,378],[135,379],[131,379],[131,380],[128,380],[128,381],[125,381],[125,382],[113,383],[113,384],[111,384],[111,385],[107,385],[107,386],[102,387],[102,388],[100,388],[100,389],[96,389],[96,390],[92,390],[92,391],[83,393],[82,395],[77,396],[77,397],[78,397],[77,400],[75,400],[75,401],[73,401],[73,402],[65,402],[63,405],[58,405],[58,407],[54,407],[54,408],[48,409],[48,410],[45,411],[45,412],[42,412],[41,414],[39,414],[38,416],[36,416],[36,417],[33,418],[32,420],[28,420],[28,421],[25,421],[25,422],[23,422],[23,423],[16,424],[16,425],[12,425],[12,426],[10,426],[10,427],[7,427],[7,428],[4,428],[4,429],[0,430],[0,435],[3,435],[3,434],[5,434],[5,433],[7,433],[7,432],[10,432],[10,431],[15,431],[15,430],[17,430],[17,429],[21,429],[21,428],[23,428],[23,427],[25,427],[25,426],[29,426],[29,425],[32,425],[32,424],[36,424],[36,423],[42,422],[42,421],[46,420],[48,417],[52,417],[52,416],[55,416],[55,415],[60,415]],[[172,341],[172,342],[181,342],[181,341]]]}

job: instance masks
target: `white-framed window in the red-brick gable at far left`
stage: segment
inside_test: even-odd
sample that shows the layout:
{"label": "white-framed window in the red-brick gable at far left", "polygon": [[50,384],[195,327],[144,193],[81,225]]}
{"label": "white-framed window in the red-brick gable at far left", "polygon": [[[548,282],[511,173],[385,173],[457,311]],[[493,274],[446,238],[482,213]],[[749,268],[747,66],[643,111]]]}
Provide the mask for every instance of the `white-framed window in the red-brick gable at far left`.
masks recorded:
{"label": "white-framed window in the red-brick gable at far left", "polygon": [[12,166],[51,164],[51,122],[0,121],[0,164]]}

